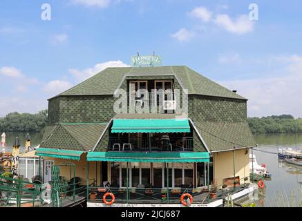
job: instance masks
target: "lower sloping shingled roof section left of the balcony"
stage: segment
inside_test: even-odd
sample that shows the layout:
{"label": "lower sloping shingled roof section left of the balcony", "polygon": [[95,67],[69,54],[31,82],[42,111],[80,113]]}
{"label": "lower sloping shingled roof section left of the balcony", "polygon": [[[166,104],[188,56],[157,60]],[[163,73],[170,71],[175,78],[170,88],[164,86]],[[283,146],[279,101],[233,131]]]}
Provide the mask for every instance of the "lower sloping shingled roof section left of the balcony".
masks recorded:
{"label": "lower sloping shingled roof section left of the balcony", "polygon": [[108,123],[57,124],[41,142],[44,148],[91,151]]}

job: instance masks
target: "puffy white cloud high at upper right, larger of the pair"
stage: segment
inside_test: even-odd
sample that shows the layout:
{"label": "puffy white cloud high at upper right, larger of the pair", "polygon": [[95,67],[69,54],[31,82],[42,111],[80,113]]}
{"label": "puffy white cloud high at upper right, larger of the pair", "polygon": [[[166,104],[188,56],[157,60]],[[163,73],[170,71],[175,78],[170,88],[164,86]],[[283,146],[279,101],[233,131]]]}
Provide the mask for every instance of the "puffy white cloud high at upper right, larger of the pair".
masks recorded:
{"label": "puffy white cloud high at upper right, larger of the pair", "polygon": [[240,15],[234,21],[232,21],[229,15],[217,15],[215,23],[218,26],[225,28],[228,32],[238,35],[252,32],[254,30],[254,22],[250,21],[247,15]]}

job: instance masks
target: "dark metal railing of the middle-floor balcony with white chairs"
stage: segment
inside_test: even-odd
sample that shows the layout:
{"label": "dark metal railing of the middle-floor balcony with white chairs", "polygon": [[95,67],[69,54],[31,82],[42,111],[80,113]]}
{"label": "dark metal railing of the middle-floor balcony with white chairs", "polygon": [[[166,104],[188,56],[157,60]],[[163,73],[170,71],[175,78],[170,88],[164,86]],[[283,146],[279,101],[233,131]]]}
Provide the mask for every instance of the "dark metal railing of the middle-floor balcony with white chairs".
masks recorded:
{"label": "dark metal railing of the middle-floor balcony with white chairs", "polygon": [[170,137],[164,142],[159,138],[133,139],[109,137],[108,151],[194,151],[193,137]]}

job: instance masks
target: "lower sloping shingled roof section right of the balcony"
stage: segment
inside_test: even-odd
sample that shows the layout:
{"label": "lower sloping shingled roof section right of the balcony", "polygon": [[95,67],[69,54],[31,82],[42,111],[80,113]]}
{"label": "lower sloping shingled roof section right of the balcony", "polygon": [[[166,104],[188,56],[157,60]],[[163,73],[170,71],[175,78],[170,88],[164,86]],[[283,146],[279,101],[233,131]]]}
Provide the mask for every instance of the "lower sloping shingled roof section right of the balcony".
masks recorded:
{"label": "lower sloping shingled roof section right of the balcony", "polygon": [[196,122],[196,128],[209,151],[227,151],[255,146],[256,142],[247,122]]}

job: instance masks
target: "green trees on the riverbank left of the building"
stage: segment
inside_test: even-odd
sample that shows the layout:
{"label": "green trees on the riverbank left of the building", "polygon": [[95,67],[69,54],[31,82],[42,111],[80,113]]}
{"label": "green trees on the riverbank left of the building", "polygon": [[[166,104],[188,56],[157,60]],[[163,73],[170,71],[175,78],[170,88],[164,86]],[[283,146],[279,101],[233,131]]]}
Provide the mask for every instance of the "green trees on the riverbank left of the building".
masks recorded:
{"label": "green trees on the riverbank left of the building", "polygon": [[30,113],[9,113],[0,118],[0,132],[40,132],[47,124],[48,111]]}

